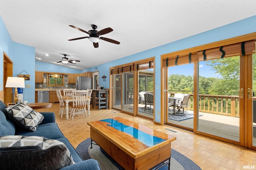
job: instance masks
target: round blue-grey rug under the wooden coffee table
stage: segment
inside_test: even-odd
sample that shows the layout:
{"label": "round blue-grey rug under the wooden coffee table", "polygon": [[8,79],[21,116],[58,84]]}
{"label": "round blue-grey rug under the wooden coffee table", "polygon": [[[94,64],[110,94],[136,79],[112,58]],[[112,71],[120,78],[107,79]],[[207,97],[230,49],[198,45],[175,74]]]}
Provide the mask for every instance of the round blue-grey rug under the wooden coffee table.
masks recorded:
{"label": "round blue-grey rug under the wooden coffee table", "polygon": [[[76,152],[80,154],[83,160],[90,158],[98,160],[102,170],[123,170],[123,168],[98,145],[92,145],[91,149],[90,138],[80,143],[76,148]],[[196,163],[174,149],[172,149],[171,156],[170,170],[201,170]],[[168,170],[168,165],[163,166],[160,170]]]}

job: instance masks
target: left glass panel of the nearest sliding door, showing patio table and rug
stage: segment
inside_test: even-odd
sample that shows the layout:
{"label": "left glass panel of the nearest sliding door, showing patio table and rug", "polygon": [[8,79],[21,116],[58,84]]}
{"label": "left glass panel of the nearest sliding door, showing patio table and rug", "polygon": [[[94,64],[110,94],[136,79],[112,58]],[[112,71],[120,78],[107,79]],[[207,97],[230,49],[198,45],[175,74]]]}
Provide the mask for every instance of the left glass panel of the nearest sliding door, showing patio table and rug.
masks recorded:
{"label": "left glass panel of the nearest sliding door, showing patio table and rug", "polygon": [[[184,64],[180,66],[168,67],[168,83],[166,86],[166,100],[168,108],[166,109],[166,124],[182,127],[193,131],[194,128],[194,64]],[[185,104],[181,95],[189,95]],[[165,100],[165,101],[166,101]],[[180,104],[183,104],[182,107]]]}

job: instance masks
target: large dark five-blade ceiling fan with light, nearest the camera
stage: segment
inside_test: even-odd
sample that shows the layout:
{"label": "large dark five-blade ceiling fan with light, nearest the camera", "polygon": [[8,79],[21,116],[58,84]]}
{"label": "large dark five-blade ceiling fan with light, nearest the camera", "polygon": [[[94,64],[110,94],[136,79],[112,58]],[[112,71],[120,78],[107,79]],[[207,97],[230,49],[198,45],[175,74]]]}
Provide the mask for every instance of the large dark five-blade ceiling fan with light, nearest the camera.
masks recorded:
{"label": "large dark five-blade ceiling fan with light, nearest the camera", "polygon": [[105,28],[105,29],[102,29],[100,31],[97,31],[97,25],[94,25],[92,24],[92,30],[89,30],[88,32],[87,31],[84,31],[83,29],[81,28],[78,28],[74,25],[69,25],[70,27],[73,27],[74,29],[77,29],[79,31],[82,31],[84,33],[87,33],[89,34],[89,37],[79,37],[79,38],[74,38],[74,39],[68,39],[68,41],[73,41],[73,40],[78,40],[78,39],[84,39],[84,38],[88,38],[92,43],[93,43],[93,46],[94,48],[98,48],[99,47],[99,41],[100,39],[104,40],[104,41],[108,41],[110,43],[114,43],[114,44],[120,44],[120,42],[114,40],[114,39],[109,39],[109,38],[105,38],[105,37],[100,37],[100,35],[104,35],[106,33],[110,33],[111,31],[113,31],[112,28],[108,27],[108,28]]}

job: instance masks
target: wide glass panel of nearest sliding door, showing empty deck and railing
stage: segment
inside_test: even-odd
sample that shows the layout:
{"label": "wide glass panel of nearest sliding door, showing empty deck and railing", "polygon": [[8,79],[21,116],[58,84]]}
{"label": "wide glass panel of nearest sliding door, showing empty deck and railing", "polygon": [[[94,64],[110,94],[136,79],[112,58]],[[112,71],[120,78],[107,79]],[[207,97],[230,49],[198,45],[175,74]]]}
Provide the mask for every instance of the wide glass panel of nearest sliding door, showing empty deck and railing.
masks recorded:
{"label": "wide glass panel of nearest sliding door, showing empty deck and railing", "polygon": [[240,56],[198,64],[198,131],[240,142],[240,115],[244,114]]}

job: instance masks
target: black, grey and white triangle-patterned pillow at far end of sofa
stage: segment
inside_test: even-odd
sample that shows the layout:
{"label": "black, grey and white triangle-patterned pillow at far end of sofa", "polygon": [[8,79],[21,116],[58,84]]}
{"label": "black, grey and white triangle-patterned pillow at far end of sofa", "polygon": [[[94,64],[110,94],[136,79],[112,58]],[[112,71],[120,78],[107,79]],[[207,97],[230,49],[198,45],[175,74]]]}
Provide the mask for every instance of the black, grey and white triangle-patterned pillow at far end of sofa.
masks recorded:
{"label": "black, grey and white triangle-patterned pillow at far end of sofa", "polygon": [[29,131],[36,131],[38,125],[44,120],[41,113],[21,102],[5,108],[5,113],[13,123]]}

